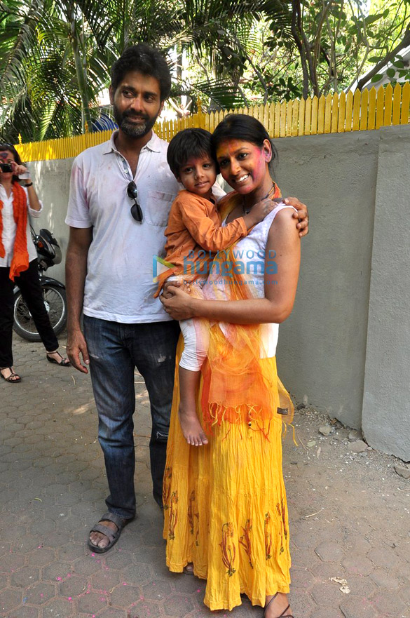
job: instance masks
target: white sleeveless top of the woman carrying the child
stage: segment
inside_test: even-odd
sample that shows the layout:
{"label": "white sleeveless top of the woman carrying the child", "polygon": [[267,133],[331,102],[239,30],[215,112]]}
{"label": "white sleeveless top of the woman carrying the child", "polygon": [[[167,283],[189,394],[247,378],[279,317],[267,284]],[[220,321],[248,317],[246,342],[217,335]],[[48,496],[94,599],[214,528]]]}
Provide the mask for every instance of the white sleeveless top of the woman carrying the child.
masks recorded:
{"label": "white sleeveless top of the woman carrying the child", "polygon": [[[284,208],[292,208],[295,212],[296,208],[287,206],[285,203],[279,203],[271,213],[269,213],[263,221],[255,225],[250,234],[245,238],[240,239],[233,248],[233,255],[237,268],[240,268],[242,278],[246,281],[246,285],[250,286],[252,296],[254,298],[264,298],[264,269],[265,269],[265,250],[268,241],[269,230],[275,216]],[[222,223],[226,225],[226,220]],[[273,252],[275,253],[275,252]],[[268,268],[272,269],[275,274],[275,255],[269,255]],[[203,287],[203,295],[206,300],[228,300],[227,294],[227,273],[219,273],[211,271],[205,286]],[[224,323],[219,323],[219,327],[226,337],[229,337],[229,329]],[[273,358],[276,354],[276,345],[278,344],[279,324],[267,323],[261,325],[261,358]]]}

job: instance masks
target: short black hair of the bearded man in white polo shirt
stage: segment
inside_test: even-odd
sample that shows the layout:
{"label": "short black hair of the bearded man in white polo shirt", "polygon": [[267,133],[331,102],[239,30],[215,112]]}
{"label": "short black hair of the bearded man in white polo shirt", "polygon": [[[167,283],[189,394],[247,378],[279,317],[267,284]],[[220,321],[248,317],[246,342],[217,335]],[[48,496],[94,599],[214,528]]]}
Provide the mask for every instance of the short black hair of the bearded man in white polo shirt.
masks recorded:
{"label": "short black hair of the bearded man in white polo shirt", "polygon": [[159,51],[145,43],[128,47],[111,67],[111,87],[114,91],[130,71],[139,71],[143,75],[155,77],[160,85],[160,100],[165,101],[169,97],[171,92],[170,69]]}

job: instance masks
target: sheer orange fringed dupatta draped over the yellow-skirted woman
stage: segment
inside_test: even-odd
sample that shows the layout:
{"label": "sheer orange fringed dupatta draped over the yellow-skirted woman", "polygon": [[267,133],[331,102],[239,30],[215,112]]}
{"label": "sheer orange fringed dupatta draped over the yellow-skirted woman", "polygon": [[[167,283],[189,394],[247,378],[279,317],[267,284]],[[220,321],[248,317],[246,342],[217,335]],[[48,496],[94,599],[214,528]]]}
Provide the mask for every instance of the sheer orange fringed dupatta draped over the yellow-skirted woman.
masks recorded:
{"label": "sheer orange fringed dupatta draped over the yellow-skirted woman", "polygon": [[[275,184],[273,197],[279,197]],[[236,195],[226,196],[221,203],[221,218],[237,205]],[[254,298],[252,287],[235,268],[235,252],[232,246],[214,259],[219,270],[228,274],[224,279],[224,300]],[[229,268],[223,264],[228,262]],[[262,431],[268,436],[269,424],[276,419],[292,422],[294,406],[276,372],[275,358],[266,358],[260,324],[228,324],[222,332],[219,325],[209,325],[210,347],[203,365],[203,388],[201,408],[203,421],[208,431],[212,425],[222,422],[242,424]]]}

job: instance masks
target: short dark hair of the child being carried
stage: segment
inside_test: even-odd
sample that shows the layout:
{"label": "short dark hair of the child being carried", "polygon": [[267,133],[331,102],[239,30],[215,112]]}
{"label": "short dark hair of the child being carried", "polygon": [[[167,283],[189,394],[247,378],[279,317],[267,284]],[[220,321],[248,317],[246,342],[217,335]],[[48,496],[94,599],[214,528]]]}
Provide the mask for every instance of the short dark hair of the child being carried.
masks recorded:
{"label": "short dark hair of the child being carried", "polygon": [[[188,159],[209,156],[214,162],[211,149],[211,134],[205,129],[189,128],[172,137],[168,146],[167,161],[175,177]],[[215,162],[216,164],[216,162]],[[217,172],[218,172],[217,168]]]}

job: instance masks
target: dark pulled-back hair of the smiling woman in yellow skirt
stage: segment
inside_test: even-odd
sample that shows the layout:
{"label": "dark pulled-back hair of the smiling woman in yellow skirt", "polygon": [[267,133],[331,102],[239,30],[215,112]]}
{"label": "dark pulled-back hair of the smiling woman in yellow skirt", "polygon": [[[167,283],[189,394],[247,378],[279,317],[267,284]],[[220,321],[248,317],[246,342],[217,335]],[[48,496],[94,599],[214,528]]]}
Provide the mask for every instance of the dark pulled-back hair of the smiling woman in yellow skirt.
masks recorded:
{"label": "dark pulled-back hair of the smiling woman in yellow skirt", "polygon": [[242,140],[259,146],[259,148],[264,146],[265,140],[269,140],[272,148],[272,159],[268,166],[269,171],[273,172],[273,161],[278,159],[278,151],[264,125],[253,116],[247,116],[247,114],[228,114],[228,116],[225,116],[212,133],[211,145],[214,159],[217,158],[217,147],[224,140]]}

